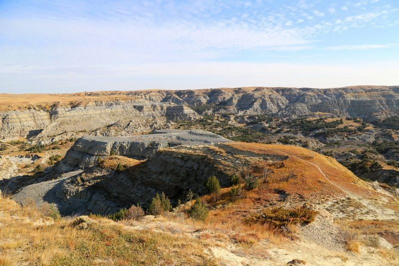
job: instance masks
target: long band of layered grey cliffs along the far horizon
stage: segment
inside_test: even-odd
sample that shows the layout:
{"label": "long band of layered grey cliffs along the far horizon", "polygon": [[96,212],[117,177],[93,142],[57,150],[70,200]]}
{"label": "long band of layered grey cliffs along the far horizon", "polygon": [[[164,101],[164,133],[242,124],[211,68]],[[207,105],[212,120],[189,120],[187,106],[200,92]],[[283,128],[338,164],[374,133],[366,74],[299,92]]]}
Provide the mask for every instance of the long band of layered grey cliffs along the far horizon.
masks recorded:
{"label": "long band of layered grey cliffs along the far horizon", "polygon": [[[0,137],[34,136],[45,140],[60,134],[96,130],[100,135],[115,135],[111,129],[101,131],[112,126],[127,135],[149,131],[170,120],[199,119],[200,115],[192,109],[199,104],[210,104],[219,113],[292,118],[325,112],[371,121],[399,114],[399,90],[386,86],[93,92],[85,101],[76,101],[76,97],[86,99],[85,95],[68,95],[63,96],[63,104],[55,96],[54,100],[51,95],[47,97],[45,104],[51,106],[48,109],[7,105],[8,110],[0,112]],[[65,102],[68,97],[74,101]]]}

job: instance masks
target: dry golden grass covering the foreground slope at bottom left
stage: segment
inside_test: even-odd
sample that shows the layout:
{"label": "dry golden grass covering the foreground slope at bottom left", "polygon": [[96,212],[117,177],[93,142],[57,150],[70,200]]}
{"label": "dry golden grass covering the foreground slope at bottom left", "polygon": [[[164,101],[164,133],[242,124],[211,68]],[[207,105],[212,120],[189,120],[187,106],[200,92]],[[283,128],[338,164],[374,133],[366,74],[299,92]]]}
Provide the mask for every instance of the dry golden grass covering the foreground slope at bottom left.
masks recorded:
{"label": "dry golden grass covering the foreground slope at bottom left", "polygon": [[200,241],[169,233],[126,230],[104,218],[78,230],[3,198],[0,213],[0,265],[213,265]]}

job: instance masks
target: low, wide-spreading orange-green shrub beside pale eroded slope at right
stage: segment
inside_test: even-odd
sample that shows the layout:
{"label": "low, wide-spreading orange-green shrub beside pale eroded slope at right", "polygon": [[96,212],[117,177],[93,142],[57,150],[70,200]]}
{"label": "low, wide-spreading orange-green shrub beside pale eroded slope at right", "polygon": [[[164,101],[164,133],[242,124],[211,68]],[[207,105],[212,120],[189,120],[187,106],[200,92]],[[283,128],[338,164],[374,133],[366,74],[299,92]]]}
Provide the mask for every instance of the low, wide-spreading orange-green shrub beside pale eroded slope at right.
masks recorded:
{"label": "low, wide-spreading orange-green shrub beside pale eroded slope at right", "polygon": [[293,209],[285,209],[283,207],[267,208],[260,214],[251,214],[246,219],[246,222],[284,227],[289,224],[309,224],[314,221],[316,214],[316,211],[304,206]]}

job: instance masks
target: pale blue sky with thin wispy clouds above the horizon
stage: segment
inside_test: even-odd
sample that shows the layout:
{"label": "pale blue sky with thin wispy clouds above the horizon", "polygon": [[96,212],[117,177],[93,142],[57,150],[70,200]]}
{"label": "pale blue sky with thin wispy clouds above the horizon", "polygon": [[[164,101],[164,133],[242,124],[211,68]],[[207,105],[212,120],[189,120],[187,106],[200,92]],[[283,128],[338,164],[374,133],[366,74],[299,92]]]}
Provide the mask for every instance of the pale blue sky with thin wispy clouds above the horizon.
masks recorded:
{"label": "pale blue sky with thin wispy clouds above the horizon", "polygon": [[398,0],[0,0],[0,93],[366,84]]}

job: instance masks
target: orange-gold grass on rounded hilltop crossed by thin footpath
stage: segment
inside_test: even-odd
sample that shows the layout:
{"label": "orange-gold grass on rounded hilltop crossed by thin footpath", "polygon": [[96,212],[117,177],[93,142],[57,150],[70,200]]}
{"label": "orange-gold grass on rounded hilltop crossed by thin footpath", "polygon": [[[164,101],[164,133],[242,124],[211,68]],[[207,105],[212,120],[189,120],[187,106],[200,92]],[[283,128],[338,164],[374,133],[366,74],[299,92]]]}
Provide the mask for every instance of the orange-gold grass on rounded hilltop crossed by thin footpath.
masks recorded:
{"label": "orange-gold grass on rounded hilltop crossed by thin footpath", "polygon": [[[285,166],[275,170],[271,183],[277,189],[281,187],[288,189],[289,193],[298,193],[305,198],[311,196],[343,195],[342,188],[346,191],[370,198],[380,195],[335,159],[302,147],[243,142],[227,143],[226,145],[238,150],[258,154],[283,156],[288,154],[289,158],[284,160]],[[327,176],[327,179],[317,167]],[[297,178],[284,180],[290,171],[294,171]],[[284,182],[287,182],[287,184],[284,184]]]}

